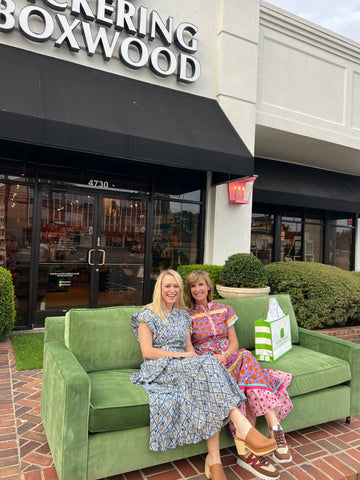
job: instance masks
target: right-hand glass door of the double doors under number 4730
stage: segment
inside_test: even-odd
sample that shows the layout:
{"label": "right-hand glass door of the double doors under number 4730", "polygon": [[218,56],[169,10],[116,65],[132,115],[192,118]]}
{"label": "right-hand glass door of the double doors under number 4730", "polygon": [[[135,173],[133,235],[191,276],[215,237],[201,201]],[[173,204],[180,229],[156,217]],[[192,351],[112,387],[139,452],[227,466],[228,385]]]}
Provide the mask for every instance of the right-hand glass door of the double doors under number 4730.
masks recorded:
{"label": "right-hand glass door of the double doors under number 4730", "polygon": [[[145,236],[146,202],[103,194],[98,306],[142,304]],[[91,255],[96,259],[96,249]]]}

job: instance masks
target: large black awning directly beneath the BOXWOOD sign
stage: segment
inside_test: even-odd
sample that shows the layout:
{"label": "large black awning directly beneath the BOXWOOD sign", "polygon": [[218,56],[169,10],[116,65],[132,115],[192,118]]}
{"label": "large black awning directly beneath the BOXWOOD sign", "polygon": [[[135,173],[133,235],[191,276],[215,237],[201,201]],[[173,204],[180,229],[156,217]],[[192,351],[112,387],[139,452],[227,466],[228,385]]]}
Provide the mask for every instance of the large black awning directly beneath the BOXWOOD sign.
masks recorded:
{"label": "large black awning directly beneath the BOXWOOD sign", "polygon": [[216,100],[0,46],[0,138],[141,162],[253,174]]}

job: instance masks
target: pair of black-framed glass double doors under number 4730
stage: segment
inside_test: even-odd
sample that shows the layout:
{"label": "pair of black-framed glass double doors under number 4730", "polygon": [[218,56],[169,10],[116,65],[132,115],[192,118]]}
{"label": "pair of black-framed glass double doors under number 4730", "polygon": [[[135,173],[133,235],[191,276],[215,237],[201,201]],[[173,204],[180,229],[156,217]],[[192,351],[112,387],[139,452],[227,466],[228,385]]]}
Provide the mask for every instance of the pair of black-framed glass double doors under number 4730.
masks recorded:
{"label": "pair of black-framed glass double doors under number 4730", "polygon": [[144,200],[44,191],[36,321],[70,308],[141,305],[145,235]]}

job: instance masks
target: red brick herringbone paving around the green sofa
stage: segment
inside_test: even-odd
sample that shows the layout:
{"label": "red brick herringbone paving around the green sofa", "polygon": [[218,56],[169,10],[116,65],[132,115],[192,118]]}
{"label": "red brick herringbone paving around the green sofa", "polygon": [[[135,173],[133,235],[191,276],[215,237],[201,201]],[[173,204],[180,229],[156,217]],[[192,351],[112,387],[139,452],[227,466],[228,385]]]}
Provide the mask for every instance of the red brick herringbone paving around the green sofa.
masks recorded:
{"label": "red brick herringbone paving around the green sofa", "polygon": [[[360,373],[359,373],[360,374]],[[57,480],[40,418],[42,370],[16,370],[10,340],[0,343],[0,479]],[[287,434],[293,461],[281,480],[360,480],[360,415]],[[222,451],[228,480],[253,480]],[[111,477],[111,480],[206,480],[204,458],[191,457]],[[76,479],[65,479],[76,480]],[[110,479],[104,479],[110,480]]]}

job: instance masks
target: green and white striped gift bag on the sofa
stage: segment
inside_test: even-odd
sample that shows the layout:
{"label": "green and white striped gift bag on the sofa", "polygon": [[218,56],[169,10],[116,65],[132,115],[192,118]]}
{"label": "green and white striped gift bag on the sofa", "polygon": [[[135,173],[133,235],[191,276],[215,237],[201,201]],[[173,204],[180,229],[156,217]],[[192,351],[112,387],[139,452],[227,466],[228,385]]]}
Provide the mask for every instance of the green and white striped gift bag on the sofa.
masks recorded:
{"label": "green and white striped gift bag on the sofa", "polygon": [[255,321],[255,357],[274,362],[289,350],[290,317],[282,311],[276,298],[270,298],[267,316]]}

